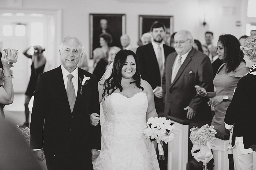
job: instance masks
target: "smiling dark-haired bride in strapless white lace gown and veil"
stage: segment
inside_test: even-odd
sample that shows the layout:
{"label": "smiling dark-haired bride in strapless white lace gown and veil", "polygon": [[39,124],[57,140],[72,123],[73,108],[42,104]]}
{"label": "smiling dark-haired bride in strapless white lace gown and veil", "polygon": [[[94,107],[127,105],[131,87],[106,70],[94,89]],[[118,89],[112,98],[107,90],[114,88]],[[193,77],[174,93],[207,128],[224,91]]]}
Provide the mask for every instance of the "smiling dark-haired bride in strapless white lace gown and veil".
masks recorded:
{"label": "smiling dark-haired bride in strapless white lace gown and veil", "polygon": [[134,52],[120,50],[112,64],[98,83],[105,120],[94,170],[159,170],[154,144],[142,133],[157,115],[153,90],[141,79]]}

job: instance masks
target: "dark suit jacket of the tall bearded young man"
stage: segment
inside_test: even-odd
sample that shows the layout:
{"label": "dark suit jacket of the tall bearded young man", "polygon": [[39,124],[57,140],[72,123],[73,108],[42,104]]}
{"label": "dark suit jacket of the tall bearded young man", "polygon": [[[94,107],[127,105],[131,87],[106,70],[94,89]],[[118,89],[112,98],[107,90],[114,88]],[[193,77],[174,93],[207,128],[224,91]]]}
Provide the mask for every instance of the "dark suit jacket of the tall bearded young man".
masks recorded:
{"label": "dark suit jacket of the tall bearded young man", "polygon": [[[163,44],[163,51],[165,52],[166,58],[175,50],[174,48]],[[157,86],[161,86],[160,69],[152,43],[138,47],[136,54],[139,57],[142,79],[150,83],[152,89],[155,89]],[[163,111],[163,98],[157,98],[154,96],[154,99],[157,113]]]}

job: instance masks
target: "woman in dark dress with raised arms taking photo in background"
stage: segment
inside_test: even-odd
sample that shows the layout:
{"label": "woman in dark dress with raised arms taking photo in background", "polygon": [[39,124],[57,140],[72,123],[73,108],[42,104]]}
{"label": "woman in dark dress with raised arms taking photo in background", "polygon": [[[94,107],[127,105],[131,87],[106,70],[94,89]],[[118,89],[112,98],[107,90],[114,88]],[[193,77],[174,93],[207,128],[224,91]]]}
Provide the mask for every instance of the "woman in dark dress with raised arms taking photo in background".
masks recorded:
{"label": "woman in dark dress with raised arms taking photo in background", "polygon": [[29,55],[27,52],[28,50],[31,48],[27,48],[23,54],[32,59],[32,65],[31,65],[31,76],[30,76],[30,80],[28,83],[28,88],[27,91],[25,93],[25,115],[26,115],[26,122],[23,124],[23,126],[29,126],[29,122],[28,122],[28,118],[29,118],[29,108],[28,108],[28,104],[29,101],[31,99],[31,97],[33,96],[33,92],[35,91],[35,85],[37,84],[37,79],[39,74],[43,73],[44,71],[44,66],[46,63],[46,58],[44,57],[43,51],[44,49],[42,49],[42,47],[40,45],[35,45],[34,47],[34,53],[33,55]]}

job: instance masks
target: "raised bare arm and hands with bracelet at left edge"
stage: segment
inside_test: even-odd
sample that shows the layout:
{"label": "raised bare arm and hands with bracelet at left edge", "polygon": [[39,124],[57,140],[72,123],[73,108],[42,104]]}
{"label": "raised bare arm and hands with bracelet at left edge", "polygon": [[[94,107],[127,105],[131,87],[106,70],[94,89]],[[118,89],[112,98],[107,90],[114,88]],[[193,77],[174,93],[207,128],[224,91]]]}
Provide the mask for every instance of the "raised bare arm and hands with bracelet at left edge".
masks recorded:
{"label": "raised bare arm and hands with bracelet at left edge", "polygon": [[14,49],[7,49],[7,55],[5,52],[2,54],[1,62],[3,64],[3,69],[0,68],[0,119],[5,118],[3,108],[5,105],[10,105],[13,103],[13,84],[12,78],[13,72],[11,67],[13,63],[10,60],[16,61],[18,58],[18,52]]}

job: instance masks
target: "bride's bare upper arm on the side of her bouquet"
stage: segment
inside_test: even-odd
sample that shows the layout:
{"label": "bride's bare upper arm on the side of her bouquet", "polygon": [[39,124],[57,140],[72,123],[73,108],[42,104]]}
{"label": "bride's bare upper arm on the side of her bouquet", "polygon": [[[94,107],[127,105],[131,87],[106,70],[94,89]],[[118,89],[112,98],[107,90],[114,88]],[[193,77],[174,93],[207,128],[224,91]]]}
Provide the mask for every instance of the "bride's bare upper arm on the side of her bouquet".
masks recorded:
{"label": "bride's bare upper arm on the side of her bouquet", "polygon": [[147,101],[148,101],[148,107],[147,107],[147,113],[146,113],[147,120],[151,117],[153,117],[153,118],[157,117],[155,101],[154,101],[154,93],[153,93],[152,87],[145,80],[141,81],[141,86],[144,88],[144,90],[147,94]]}

